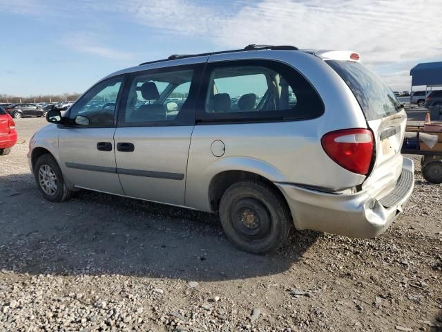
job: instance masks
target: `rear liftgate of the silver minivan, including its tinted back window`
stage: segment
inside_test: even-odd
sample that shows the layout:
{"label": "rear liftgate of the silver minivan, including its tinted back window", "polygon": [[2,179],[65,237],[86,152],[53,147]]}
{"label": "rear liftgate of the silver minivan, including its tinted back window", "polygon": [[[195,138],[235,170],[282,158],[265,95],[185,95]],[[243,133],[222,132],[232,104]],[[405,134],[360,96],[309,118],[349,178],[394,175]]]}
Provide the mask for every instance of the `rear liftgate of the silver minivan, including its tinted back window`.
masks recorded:
{"label": "rear liftgate of the silver minivan, including its tinted back window", "polygon": [[360,62],[329,60],[327,63],[354,93],[376,140],[376,159],[363,187],[394,185],[402,172],[401,147],[407,114],[381,78]]}

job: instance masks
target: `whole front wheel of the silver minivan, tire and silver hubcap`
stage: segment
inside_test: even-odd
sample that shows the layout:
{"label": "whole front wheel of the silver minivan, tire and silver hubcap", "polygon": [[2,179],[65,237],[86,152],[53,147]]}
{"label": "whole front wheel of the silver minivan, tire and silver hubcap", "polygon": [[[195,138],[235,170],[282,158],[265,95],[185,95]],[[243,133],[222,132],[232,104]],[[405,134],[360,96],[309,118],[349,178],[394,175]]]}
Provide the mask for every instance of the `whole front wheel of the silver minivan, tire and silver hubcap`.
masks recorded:
{"label": "whole front wheel of the silver minivan, tire and silver hubcap", "polygon": [[44,198],[51,202],[62,202],[70,197],[70,190],[64,183],[63,174],[54,157],[44,154],[34,167],[35,181]]}

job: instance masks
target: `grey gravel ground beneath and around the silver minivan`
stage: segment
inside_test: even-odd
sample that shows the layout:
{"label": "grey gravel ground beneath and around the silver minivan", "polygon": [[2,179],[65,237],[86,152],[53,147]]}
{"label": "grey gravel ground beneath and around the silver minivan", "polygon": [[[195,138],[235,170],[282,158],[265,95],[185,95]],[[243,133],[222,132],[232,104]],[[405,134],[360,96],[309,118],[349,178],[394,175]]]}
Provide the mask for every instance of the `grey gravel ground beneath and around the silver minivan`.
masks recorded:
{"label": "grey gravel ground beneath and around the silver minivan", "polygon": [[0,158],[0,331],[442,331],[442,186],[376,239],[294,232],[234,249],[210,214],[80,192],[50,203],[17,121]]}

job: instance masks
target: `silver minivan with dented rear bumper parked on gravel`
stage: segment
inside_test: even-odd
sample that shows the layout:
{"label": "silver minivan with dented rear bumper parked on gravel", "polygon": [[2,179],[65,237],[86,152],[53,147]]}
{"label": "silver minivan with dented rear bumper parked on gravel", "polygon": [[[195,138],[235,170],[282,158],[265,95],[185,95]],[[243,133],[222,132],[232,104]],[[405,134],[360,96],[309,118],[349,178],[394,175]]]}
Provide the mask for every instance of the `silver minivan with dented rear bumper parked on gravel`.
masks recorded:
{"label": "silver minivan with dented rear bumper parked on gravel", "polygon": [[412,194],[407,116],[351,51],[247,46],[113,73],[30,140],[41,194],[80,189],[218,213],[248,252],[294,226],[381,234]]}

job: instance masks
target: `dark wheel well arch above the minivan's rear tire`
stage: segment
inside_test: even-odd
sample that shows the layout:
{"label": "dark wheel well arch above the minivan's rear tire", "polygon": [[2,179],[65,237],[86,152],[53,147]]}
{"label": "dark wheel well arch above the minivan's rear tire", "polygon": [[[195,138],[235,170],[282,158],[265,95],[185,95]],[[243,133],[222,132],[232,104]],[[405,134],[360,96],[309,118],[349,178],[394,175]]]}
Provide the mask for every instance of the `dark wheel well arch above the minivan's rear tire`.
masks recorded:
{"label": "dark wheel well arch above the minivan's rear tire", "polygon": [[255,173],[251,172],[245,172],[245,171],[225,171],[216,174],[210,183],[209,186],[209,200],[211,205],[212,211],[218,211],[218,208],[220,207],[220,201],[221,197],[224,194],[224,192],[227,190],[228,187],[233,185],[233,183],[237,183],[240,181],[258,181],[265,183],[269,187],[272,188],[273,192],[278,195],[282,202],[287,205],[287,209],[289,209],[289,205],[287,204],[287,200],[285,199],[282,192],[279,190],[276,185],[271,182],[269,179],[265,178],[264,176],[260,176]]}

